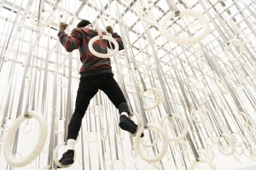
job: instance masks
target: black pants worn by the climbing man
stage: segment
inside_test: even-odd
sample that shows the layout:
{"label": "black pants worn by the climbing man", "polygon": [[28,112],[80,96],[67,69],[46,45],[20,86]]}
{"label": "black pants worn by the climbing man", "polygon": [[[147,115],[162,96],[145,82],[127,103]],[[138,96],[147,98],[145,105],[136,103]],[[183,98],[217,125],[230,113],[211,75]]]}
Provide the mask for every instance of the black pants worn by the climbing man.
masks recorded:
{"label": "black pants worn by the climbing man", "polygon": [[101,89],[108,95],[108,99],[112,101],[113,105],[119,110],[119,113],[123,111],[130,113],[124,94],[119,88],[118,83],[113,79],[112,74],[106,73],[91,77],[81,77],[75,110],[68,124],[67,139],[77,139],[90,99],[95,96],[98,89]]}

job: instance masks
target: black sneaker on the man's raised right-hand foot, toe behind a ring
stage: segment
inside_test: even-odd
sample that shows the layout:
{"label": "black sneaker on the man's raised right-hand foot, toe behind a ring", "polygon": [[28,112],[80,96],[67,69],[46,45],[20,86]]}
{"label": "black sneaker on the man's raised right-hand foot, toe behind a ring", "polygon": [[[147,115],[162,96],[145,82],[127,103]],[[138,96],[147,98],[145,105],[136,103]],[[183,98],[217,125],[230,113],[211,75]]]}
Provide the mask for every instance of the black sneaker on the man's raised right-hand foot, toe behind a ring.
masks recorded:
{"label": "black sneaker on the man's raised right-hand foot, toe behind a ring", "polygon": [[[119,117],[119,127],[125,131],[130,132],[131,134],[134,134],[137,131],[137,124],[125,115],[121,115]],[[141,137],[143,136],[144,134],[142,133]]]}

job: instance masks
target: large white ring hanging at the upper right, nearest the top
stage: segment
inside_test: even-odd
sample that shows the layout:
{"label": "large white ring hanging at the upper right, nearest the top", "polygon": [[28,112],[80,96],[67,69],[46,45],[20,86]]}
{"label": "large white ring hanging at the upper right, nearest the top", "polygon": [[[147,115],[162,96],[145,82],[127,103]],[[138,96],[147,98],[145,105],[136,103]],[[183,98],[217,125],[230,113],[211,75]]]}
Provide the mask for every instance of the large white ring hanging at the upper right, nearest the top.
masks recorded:
{"label": "large white ring hanging at the upper right, nearest the top", "polygon": [[196,42],[200,42],[202,39],[207,37],[207,34],[209,34],[210,32],[210,26],[208,24],[207,19],[204,17],[204,15],[190,9],[182,9],[179,11],[179,13],[180,13],[179,16],[189,15],[199,20],[201,22],[201,25],[203,26],[203,31],[201,32],[201,34],[196,37],[186,37],[186,38],[172,36],[170,32],[167,30],[168,20],[171,20],[175,17],[175,11],[171,11],[163,17],[162,24],[160,27],[160,32],[162,36],[166,37],[167,40],[171,42],[175,42],[180,45],[195,44]]}

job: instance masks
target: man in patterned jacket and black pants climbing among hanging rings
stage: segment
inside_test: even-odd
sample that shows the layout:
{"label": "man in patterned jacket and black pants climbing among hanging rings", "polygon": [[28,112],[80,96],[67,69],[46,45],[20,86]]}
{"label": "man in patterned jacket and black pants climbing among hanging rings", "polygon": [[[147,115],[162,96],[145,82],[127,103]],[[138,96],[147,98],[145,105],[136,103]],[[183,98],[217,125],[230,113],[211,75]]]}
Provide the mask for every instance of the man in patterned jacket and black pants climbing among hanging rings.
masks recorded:
{"label": "man in patterned jacket and black pants climbing among hanging rings", "polygon": [[[98,89],[101,89],[105,94],[107,94],[113,105],[115,105],[119,110],[119,127],[130,133],[136,133],[137,131],[137,124],[129,118],[130,111],[125,101],[124,94],[119,88],[118,83],[113,79],[110,59],[98,58],[90,53],[88,43],[92,37],[96,37],[98,35],[97,31],[88,20],[80,21],[77,28],[73,29],[70,35],[65,33],[66,28],[67,24],[60,24],[60,31],[58,33],[60,42],[63,47],[66,48],[67,52],[79,49],[80,60],[83,65],[79,71],[81,77],[75,110],[68,124],[68,150],[63,154],[60,160],[62,165],[72,164],[74,161],[75,140],[79,135],[82,119],[90,103],[90,99],[94,97]],[[121,37],[119,37],[117,33],[113,32],[113,28],[108,26],[107,31],[112,34],[112,37],[118,42],[119,50],[124,49]],[[102,34],[106,35],[106,32],[103,31]],[[94,43],[93,48],[98,53],[107,54],[110,44],[105,40],[97,41]]]}

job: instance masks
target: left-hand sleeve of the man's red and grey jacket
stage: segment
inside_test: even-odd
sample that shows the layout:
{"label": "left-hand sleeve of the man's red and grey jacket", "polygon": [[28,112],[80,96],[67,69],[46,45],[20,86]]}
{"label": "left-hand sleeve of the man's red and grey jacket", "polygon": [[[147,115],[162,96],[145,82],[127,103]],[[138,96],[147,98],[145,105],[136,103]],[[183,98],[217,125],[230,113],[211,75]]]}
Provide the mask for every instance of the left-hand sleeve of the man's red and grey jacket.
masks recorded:
{"label": "left-hand sleeve of the man's red and grey jacket", "polygon": [[60,31],[58,37],[67,52],[72,52],[74,49],[79,48],[83,42],[82,32],[78,28],[73,29],[70,35],[67,35],[64,31]]}

